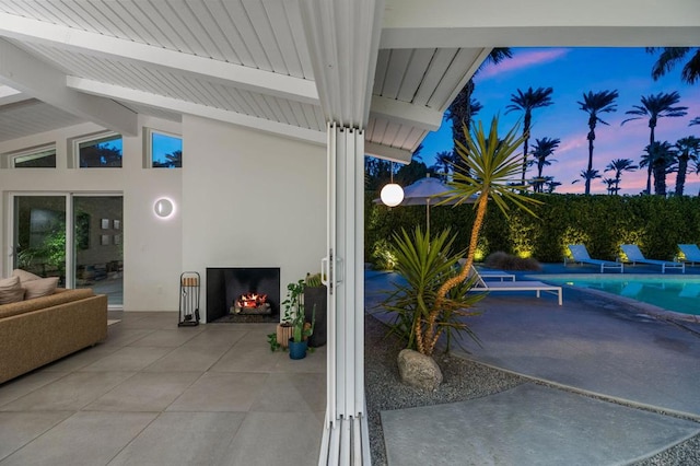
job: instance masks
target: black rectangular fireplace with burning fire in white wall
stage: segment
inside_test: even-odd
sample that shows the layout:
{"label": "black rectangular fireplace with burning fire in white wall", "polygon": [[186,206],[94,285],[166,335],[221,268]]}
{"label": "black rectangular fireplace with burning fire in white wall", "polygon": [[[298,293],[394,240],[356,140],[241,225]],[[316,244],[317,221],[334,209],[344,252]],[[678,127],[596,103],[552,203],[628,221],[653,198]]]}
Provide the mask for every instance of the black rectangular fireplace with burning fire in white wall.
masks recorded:
{"label": "black rectangular fireplace with burning fire in white wall", "polygon": [[279,323],[279,267],[207,268],[207,322]]}

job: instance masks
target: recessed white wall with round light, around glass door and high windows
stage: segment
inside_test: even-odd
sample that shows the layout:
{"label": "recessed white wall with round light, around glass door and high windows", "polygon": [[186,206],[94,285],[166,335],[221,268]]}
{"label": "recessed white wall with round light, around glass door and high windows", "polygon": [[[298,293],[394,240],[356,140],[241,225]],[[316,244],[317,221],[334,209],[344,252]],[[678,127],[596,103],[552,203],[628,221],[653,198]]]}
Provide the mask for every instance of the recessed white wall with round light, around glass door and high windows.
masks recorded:
{"label": "recessed white wall with round light, around glass door and high windows", "polygon": [[[141,118],[140,127],[180,133],[180,125]],[[163,222],[153,214],[160,196],[180,200],[182,171],[144,170],[143,138],[124,138],[122,168],[68,168],[68,139],[104,130],[93,124],[78,125],[0,143],[0,154],[56,143],[56,168],[0,170],[0,244],[3,276],[11,271],[8,218],[9,193],[116,193],[124,196],[124,308],[126,311],[176,311],[182,269],[182,222]],[[185,155],[186,156],[186,155]]]}

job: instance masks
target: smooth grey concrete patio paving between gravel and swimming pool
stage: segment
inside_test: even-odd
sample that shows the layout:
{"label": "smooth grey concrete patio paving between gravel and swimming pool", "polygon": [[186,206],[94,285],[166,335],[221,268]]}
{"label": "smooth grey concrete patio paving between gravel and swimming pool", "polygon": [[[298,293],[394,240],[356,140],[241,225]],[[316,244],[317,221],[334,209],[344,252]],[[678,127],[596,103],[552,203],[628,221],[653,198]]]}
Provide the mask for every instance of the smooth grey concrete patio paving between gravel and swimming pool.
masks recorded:
{"label": "smooth grey concrete patio paving between gravel and swimming pool", "polygon": [[[368,306],[395,279],[368,273]],[[570,288],[563,306],[513,293],[489,295],[480,308],[470,324],[482,347],[465,340],[470,354],[463,356],[534,382],[384,411],[390,465],[631,464],[700,433],[697,324],[660,321]]]}

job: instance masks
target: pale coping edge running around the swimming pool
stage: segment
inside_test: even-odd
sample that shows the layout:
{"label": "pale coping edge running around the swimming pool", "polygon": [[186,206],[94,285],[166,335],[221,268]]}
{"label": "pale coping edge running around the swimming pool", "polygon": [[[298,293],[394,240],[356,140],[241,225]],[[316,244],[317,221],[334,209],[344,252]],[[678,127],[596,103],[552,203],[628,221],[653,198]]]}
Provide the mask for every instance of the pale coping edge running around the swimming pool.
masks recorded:
{"label": "pale coping edge running around the swimming pool", "polygon": [[[639,280],[649,280],[649,279],[656,279],[656,278],[677,278],[677,279],[682,279],[682,278],[690,278],[690,279],[695,279],[695,280],[700,280],[700,275],[697,273],[684,273],[684,275],[662,275],[662,273],[606,273],[605,276],[603,276],[602,273],[533,273],[533,275],[525,275],[526,278],[532,278],[534,280],[541,280],[541,281],[547,281],[547,280],[551,280],[551,279],[557,279],[557,280],[585,280],[585,279],[595,279],[595,278],[627,278],[627,279],[639,279]],[[561,286],[562,288],[568,288],[568,289],[572,289],[572,290],[578,290],[578,291],[582,291],[585,293],[590,293],[593,295],[598,295],[598,296],[603,296],[603,298],[607,298],[610,299],[612,301],[618,301],[620,303],[625,303],[627,305],[630,305],[634,308],[638,308],[640,312],[644,313],[644,314],[649,314],[655,318],[662,318],[662,319],[667,319],[667,321],[684,321],[684,322],[691,322],[695,324],[700,324],[700,315],[695,315],[695,314],[684,314],[684,313],[679,313],[679,312],[675,312],[675,311],[669,311],[667,308],[664,307],[660,307],[656,306],[654,304],[649,304],[649,303],[644,303],[638,300],[634,300],[632,298],[627,298],[627,296],[620,296],[619,294],[614,294],[614,293],[608,293],[607,291],[600,291],[600,290],[594,290],[591,288],[582,288],[582,287],[573,287],[571,284],[565,284],[565,283],[553,283],[557,286]]]}

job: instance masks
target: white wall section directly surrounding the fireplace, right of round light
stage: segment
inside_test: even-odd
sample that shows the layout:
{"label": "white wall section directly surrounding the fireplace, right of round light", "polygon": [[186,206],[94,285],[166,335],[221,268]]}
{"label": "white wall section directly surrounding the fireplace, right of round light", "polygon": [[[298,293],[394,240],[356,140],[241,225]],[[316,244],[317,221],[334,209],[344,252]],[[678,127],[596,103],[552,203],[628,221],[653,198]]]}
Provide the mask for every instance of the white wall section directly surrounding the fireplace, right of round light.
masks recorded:
{"label": "white wall section directly surrounding the fireplace, right of round light", "polygon": [[282,299],[287,283],[319,271],[325,147],[188,116],[183,140],[186,270],[206,281],[207,267],[280,267]]}

